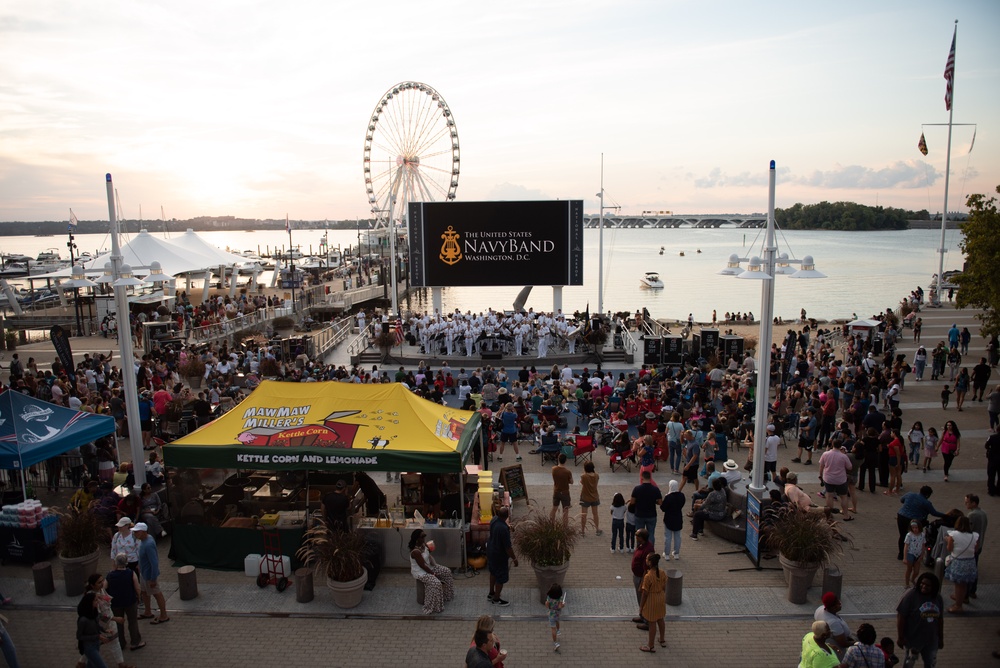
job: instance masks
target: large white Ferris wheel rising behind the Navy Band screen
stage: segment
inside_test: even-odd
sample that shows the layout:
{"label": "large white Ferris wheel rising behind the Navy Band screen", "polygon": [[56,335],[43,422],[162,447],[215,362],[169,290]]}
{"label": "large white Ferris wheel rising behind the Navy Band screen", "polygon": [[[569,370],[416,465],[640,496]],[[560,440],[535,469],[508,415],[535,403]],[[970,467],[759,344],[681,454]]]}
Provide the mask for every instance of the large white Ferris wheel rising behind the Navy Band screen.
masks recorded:
{"label": "large white Ferris wheel rising behind the Navy Band screen", "polygon": [[365,133],[365,188],[376,227],[403,224],[410,202],[455,199],[458,128],[441,94],[404,81],[375,105]]}

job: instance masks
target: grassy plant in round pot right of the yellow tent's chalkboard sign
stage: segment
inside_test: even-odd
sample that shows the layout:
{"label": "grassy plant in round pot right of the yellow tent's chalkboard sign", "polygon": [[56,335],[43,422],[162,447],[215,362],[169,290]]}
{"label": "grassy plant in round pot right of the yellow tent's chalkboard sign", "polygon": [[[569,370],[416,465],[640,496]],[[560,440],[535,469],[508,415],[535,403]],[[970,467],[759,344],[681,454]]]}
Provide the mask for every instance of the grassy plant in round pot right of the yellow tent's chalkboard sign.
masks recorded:
{"label": "grassy plant in round pot right of the yellow tent's chalkboard sign", "polygon": [[580,540],[576,524],[564,524],[542,512],[532,511],[513,526],[514,551],[531,563],[538,581],[539,602],[553,584],[563,584],[569,558]]}

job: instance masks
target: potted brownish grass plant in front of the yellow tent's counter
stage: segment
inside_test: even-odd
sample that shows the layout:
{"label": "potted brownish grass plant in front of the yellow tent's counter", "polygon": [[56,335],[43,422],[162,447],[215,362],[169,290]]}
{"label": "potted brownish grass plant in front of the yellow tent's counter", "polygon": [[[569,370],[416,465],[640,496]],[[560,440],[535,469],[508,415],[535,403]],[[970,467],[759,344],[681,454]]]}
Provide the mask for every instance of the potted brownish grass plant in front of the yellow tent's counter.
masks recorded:
{"label": "potted brownish grass plant in front of the yellow tent's counter", "polygon": [[295,556],[306,566],[326,574],[326,586],[338,608],[353,608],[361,603],[368,581],[365,546],[360,533],[331,531],[324,520],[317,520],[303,534],[302,546]]}

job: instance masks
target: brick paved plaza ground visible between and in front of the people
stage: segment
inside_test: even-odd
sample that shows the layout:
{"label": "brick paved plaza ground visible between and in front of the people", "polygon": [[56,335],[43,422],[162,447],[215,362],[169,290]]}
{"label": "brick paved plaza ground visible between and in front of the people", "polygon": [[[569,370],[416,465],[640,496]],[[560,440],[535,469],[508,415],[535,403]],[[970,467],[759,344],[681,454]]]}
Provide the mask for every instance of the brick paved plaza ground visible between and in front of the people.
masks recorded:
{"label": "brick paved plaza ground visible between and in front of the people", "polygon": [[[922,341],[932,348],[945,338],[953,322],[978,331],[971,312],[950,308],[924,310]],[[899,352],[912,359],[916,345],[904,332]],[[973,366],[983,355],[985,342],[974,336],[964,365]],[[929,374],[927,376],[929,377]],[[991,387],[1000,382],[994,375]],[[981,507],[1000,522],[997,497],[986,494],[983,443],[988,434],[986,404],[969,402],[966,410],[954,408],[944,414],[938,395],[942,383],[907,379],[902,394],[904,430],[915,420],[925,427],[939,429],[946,419],[956,420],[962,432],[961,456],[955,461],[951,481],[943,482],[940,462],[936,469],[922,473],[911,467],[904,475],[906,491],[922,484],[934,488],[931,499],[942,511],[963,508],[963,498],[975,492]],[[745,451],[730,456],[741,464]],[[815,466],[791,464],[794,442],[780,449],[779,466],[790,466],[800,474],[803,488],[815,496],[818,491]],[[512,453],[505,457],[513,459]],[[476,617],[492,613],[498,616],[497,634],[510,652],[506,665],[540,666],[548,663],[566,665],[616,666],[661,664],[675,668],[731,665],[794,666],[799,645],[808,631],[813,610],[819,605],[820,588],[809,591],[809,601],[793,605],[785,600],[780,570],[739,570],[752,566],[741,554],[720,554],[737,549],[736,545],[706,533],[698,542],[687,539],[678,562],[661,564],[676,568],[684,575],[684,602],[667,609],[669,647],[646,655],[638,647],[645,643],[645,633],[637,631],[629,619],[636,614],[629,571],[628,554],[611,554],[608,507],[615,492],[628,496],[638,481],[638,473],[608,470],[604,457],[595,457],[601,474],[601,518],[606,529],[598,538],[588,532],[575,552],[568,574],[568,605],[564,615],[562,648],[554,655],[544,608],[537,603],[534,576],[530,566],[513,569],[504,595],[511,600],[506,608],[491,606],[485,573],[456,574],[456,600],[442,615],[420,616],[414,596],[413,580],[405,571],[383,571],[375,591],[367,592],[358,608],[336,608],[322,581],[317,582],[316,598],[311,603],[295,601],[294,591],[279,594],[273,587],[258,589],[252,578],[242,573],[198,570],[200,596],[181,601],[177,595],[177,574],[166,557],[165,539],[160,545],[161,583],[167,594],[172,621],[160,627],[144,626],[147,647],[126,652],[126,661],[139,666],[444,666],[461,665],[472,636]],[[525,478],[532,505],[548,512],[551,498],[549,466],[544,468],[537,456],[525,455]],[[570,464],[570,468],[573,468]],[[574,469],[576,478],[582,466]],[[661,468],[655,479],[665,485],[669,475]],[[575,486],[574,500],[579,494]],[[904,589],[903,567],[896,560],[895,512],[897,498],[879,492],[861,494],[857,521],[845,525],[852,542],[839,560],[844,573],[843,615],[852,628],[862,621],[874,624],[879,636],[895,638],[895,605]],[[394,498],[395,490],[385,491]],[[689,492],[686,489],[685,492]],[[688,495],[690,504],[690,495]],[[46,503],[50,500],[43,497]],[[55,502],[55,501],[51,501]],[[526,511],[524,502],[515,506],[515,515]],[[605,520],[607,522],[605,523]],[[995,556],[996,538],[990,532],[986,551],[980,560],[979,598],[966,606],[962,616],[948,614],[945,619],[945,649],[938,665],[998,665],[990,656],[1000,649],[1000,559]],[[658,527],[657,549],[662,551],[662,525]],[[765,567],[777,567],[777,560],[764,561]],[[56,578],[61,574],[56,567]],[[102,554],[101,569],[110,567]],[[466,577],[467,576],[467,577]],[[817,580],[820,578],[818,577]],[[15,603],[4,611],[10,619],[9,631],[18,649],[22,666],[70,666],[76,660],[75,623],[72,611],[76,599],[63,593],[57,581],[55,594],[44,598],[34,595],[31,572],[27,566],[9,564],[0,569],[0,588]],[[945,583],[943,595],[952,592]],[[107,655],[106,655],[107,656]]]}

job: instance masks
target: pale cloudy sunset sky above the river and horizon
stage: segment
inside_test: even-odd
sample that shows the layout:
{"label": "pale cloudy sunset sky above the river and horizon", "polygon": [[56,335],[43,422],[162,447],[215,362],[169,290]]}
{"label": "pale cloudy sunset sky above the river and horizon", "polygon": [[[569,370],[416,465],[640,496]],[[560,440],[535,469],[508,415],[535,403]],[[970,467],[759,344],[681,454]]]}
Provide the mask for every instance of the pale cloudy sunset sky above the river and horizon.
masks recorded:
{"label": "pale cloudy sunset sky above the river and horizon", "polygon": [[[1000,184],[1000,2],[0,3],[0,221],[370,216],[369,118],[447,101],[459,200],[597,213],[823,200],[940,211]],[[917,150],[921,132],[929,154]]]}

